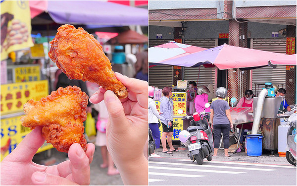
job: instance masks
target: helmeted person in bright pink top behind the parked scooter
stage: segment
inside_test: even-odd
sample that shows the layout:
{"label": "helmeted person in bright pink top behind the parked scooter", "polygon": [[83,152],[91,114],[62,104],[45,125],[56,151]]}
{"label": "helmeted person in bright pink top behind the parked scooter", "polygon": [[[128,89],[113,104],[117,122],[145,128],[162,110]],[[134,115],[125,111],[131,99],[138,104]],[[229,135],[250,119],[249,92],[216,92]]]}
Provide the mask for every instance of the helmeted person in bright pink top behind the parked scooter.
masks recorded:
{"label": "helmeted person in bright pink top behind the parked scooter", "polygon": [[196,112],[200,113],[203,112],[205,109],[205,112],[210,112],[210,108],[205,108],[205,103],[208,102],[208,93],[209,93],[209,89],[202,85],[199,86],[197,89],[197,96],[194,100],[195,103],[195,109]]}

